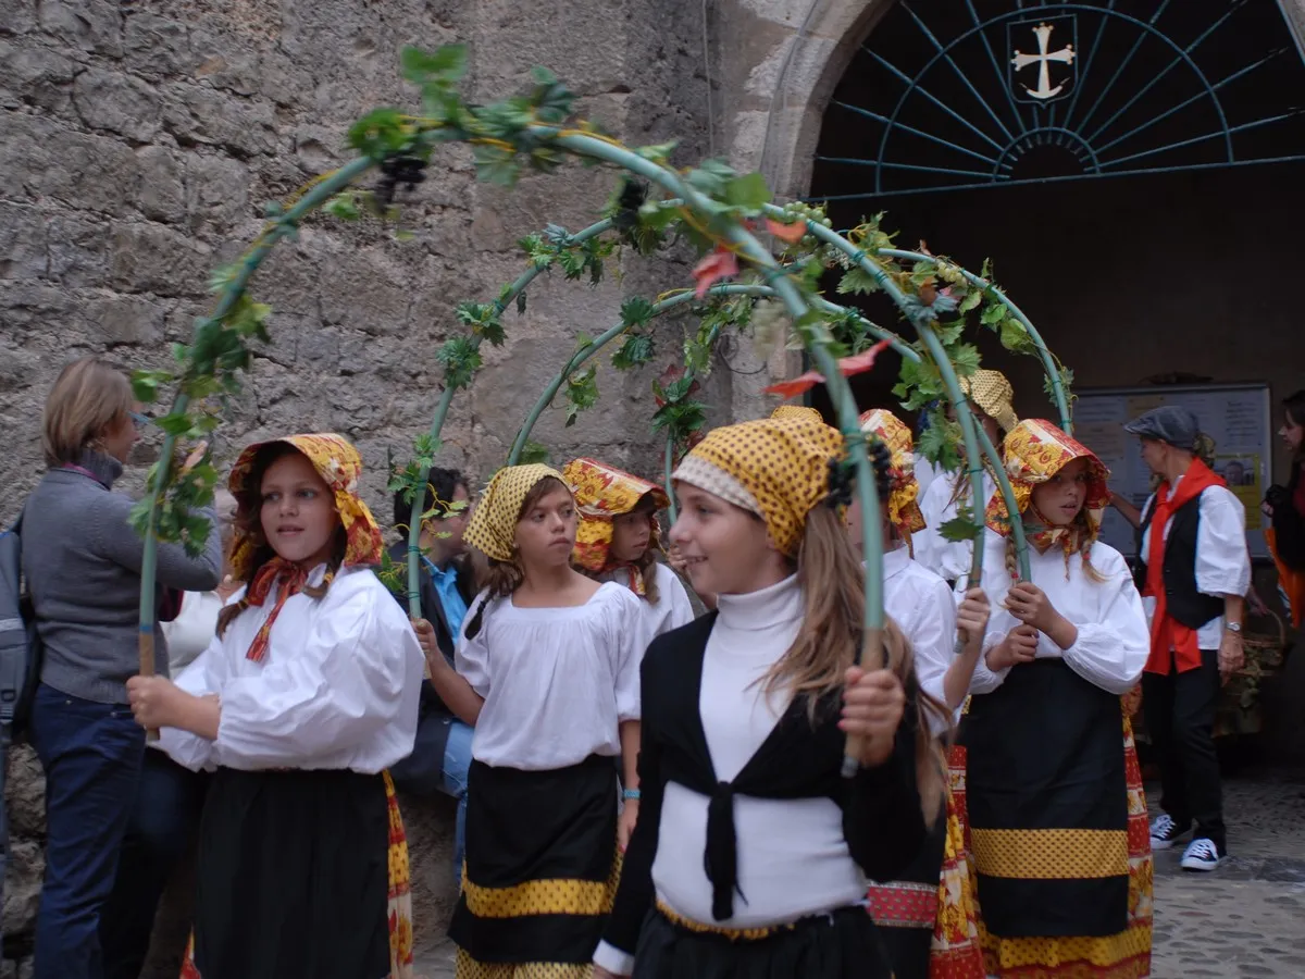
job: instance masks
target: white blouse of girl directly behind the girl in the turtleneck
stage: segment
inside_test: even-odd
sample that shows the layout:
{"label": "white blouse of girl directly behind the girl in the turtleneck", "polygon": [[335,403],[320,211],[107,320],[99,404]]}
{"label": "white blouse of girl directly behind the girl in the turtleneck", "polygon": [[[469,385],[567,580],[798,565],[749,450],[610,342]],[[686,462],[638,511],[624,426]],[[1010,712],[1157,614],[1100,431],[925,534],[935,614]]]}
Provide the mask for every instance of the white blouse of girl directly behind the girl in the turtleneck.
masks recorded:
{"label": "white blouse of girl directly behind the girl in the turtleneck", "polygon": [[[946,705],[942,679],[957,651],[957,603],[947,582],[911,560],[904,547],[889,551],[883,555],[883,611],[911,640],[920,688]],[[929,727],[934,736],[947,730],[933,713]]]}

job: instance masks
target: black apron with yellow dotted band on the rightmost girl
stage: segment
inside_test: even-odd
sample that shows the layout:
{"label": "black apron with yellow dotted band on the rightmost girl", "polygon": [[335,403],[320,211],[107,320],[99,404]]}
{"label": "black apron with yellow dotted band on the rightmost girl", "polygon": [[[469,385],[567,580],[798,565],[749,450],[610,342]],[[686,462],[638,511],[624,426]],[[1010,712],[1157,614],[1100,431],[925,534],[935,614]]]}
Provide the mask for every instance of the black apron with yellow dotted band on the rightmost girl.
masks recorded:
{"label": "black apron with yellow dotted band on the rightmost girl", "polygon": [[979,906],[1001,937],[1128,928],[1128,786],[1117,694],[1062,659],[1017,666],[974,697],[966,745]]}

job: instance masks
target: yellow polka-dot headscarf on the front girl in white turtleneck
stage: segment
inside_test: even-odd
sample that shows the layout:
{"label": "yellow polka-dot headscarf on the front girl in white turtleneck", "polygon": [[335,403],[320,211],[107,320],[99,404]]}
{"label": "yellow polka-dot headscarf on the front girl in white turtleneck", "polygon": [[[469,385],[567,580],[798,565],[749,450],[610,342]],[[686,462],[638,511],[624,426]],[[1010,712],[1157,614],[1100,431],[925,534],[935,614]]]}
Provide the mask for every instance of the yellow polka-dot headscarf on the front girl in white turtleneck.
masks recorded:
{"label": "yellow polka-dot headscarf on the front girl in white turtleneck", "polygon": [[709,432],[673,479],[756,513],[793,556],[806,514],[829,495],[829,463],[844,454],[843,436],[821,420],[765,418]]}

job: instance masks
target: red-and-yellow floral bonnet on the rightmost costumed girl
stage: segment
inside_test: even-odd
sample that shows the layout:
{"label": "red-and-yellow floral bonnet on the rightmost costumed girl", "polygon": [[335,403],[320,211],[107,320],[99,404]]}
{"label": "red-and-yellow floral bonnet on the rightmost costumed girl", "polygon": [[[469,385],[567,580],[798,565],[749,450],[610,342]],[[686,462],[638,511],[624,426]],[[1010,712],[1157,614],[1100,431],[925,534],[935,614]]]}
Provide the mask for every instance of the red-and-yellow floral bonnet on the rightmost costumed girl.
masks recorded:
{"label": "red-and-yellow floral bonnet on the rightmost costumed girl", "polygon": [[[1004,461],[1021,513],[1031,506],[1035,486],[1045,483],[1070,462],[1081,458],[1090,459],[1083,512],[1087,516],[1088,534],[1095,540],[1101,529],[1101,514],[1111,503],[1111,489],[1107,483],[1111,471],[1105,463],[1086,445],[1040,418],[1024,419],[1006,433]],[[1002,536],[1010,534],[1010,514],[1006,512],[1006,500],[1000,488],[988,501],[985,517],[988,526],[998,534]],[[1034,543],[1045,550],[1052,543],[1061,542],[1066,551],[1073,551],[1081,542],[1071,540],[1071,527],[1045,527],[1039,531],[1039,539]]]}

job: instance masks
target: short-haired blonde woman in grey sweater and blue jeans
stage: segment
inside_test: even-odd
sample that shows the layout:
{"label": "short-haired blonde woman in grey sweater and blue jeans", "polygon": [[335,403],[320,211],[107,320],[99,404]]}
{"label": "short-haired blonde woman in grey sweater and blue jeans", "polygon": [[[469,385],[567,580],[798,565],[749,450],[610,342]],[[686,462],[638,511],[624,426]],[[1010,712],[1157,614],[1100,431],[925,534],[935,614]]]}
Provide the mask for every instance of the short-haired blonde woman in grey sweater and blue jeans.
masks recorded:
{"label": "short-haired blonde woman in grey sweater and blue jeans", "polygon": [[[138,610],[145,542],[132,497],[115,480],[144,422],[127,377],[98,358],[64,367],[46,399],[48,470],[23,506],[22,569],[43,649],[31,741],[46,770],[48,842],[37,915],[38,979],[99,979],[99,918],[136,804],[145,732],[128,709],[140,668]],[[211,510],[209,539],[192,557],[158,548],[164,589],[218,585],[222,551]],[[167,641],[155,644],[168,670]]]}

